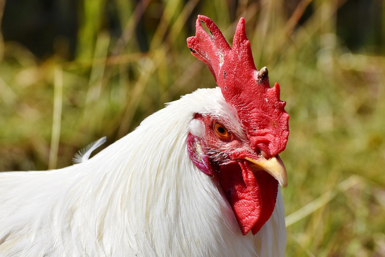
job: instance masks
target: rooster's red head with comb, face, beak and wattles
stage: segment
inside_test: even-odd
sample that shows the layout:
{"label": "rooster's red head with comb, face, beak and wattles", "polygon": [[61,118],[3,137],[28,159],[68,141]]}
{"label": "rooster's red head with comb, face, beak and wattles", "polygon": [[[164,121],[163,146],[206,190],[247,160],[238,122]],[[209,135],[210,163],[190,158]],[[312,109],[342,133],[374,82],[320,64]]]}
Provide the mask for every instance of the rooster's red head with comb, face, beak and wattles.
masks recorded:
{"label": "rooster's red head with comb, face, beak and wattles", "polygon": [[187,152],[196,167],[218,180],[243,235],[255,235],[273,213],[278,184],[287,186],[278,156],[289,135],[286,102],[278,83],[270,88],[267,68],[256,70],[244,18],[231,48],[214,22],[198,15],[196,36],[187,45],[208,65],[226,102],[218,112],[195,114]]}

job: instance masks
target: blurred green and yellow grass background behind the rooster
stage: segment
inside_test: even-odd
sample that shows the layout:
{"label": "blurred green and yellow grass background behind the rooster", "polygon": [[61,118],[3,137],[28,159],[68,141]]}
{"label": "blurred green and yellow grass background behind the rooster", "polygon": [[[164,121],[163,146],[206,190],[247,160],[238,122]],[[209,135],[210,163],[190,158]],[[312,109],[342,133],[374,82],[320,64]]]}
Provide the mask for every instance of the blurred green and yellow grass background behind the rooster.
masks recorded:
{"label": "blurred green and yellow grass background behind the rooster", "polygon": [[287,256],[385,256],[383,0],[0,0],[0,170],[71,165],[214,87],[198,14],[229,43],[244,17],[287,101]]}

